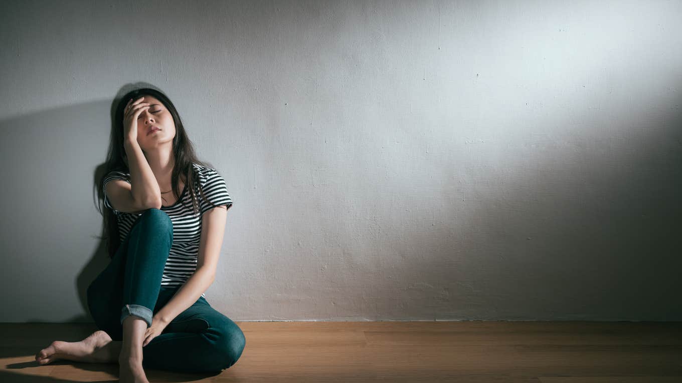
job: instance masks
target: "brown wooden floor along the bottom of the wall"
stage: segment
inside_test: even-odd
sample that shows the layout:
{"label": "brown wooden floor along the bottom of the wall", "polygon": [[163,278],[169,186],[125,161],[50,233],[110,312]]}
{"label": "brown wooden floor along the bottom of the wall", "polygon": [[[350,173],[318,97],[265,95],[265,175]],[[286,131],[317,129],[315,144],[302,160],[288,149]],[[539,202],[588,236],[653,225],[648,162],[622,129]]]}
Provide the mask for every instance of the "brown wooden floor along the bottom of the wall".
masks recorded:
{"label": "brown wooden floor along the bottom of the wall", "polygon": [[[682,322],[237,322],[246,348],[218,375],[150,382],[682,382]],[[0,324],[0,382],[116,382],[117,364],[33,356],[94,324]]]}

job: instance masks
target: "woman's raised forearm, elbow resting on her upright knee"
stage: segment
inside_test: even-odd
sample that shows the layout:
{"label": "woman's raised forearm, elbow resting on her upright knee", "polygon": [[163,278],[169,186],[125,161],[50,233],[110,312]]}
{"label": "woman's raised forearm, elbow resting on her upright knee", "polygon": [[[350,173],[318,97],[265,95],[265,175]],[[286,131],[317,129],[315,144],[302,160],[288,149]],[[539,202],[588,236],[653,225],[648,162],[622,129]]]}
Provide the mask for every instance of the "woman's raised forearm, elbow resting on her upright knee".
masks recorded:
{"label": "woman's raised forearm, elbow resting on her upright knee", "polygon": [[149,162],[136,139],[124,140],[123,147],[128,155],[130,170],[130,193],[145,206],[161,206],[161,189],[149,167]]}

